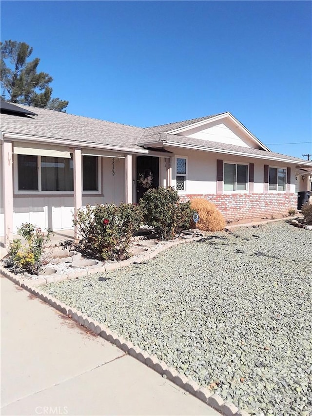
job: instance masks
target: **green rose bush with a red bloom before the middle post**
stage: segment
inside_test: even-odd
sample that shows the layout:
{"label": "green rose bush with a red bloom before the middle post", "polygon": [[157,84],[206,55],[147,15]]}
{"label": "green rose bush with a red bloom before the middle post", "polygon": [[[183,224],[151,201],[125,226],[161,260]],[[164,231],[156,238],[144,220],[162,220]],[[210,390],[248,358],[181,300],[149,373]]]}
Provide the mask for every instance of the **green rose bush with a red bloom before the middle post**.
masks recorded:
{"label": "green rose bush with a red bloom before the middle post", "polygon": [[140,207],[133,204],[80,208],[73,221],[82,237],[77,248],[101,260],[126,258],[130,239],[142,220]]}

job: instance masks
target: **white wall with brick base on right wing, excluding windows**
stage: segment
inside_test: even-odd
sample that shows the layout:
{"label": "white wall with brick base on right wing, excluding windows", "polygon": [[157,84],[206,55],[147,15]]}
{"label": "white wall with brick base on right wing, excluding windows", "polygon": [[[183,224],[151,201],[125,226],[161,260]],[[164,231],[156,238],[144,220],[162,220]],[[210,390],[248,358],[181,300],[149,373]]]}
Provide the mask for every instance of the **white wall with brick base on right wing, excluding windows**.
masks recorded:
{"label": "white wall with brick base on right wing, excluding windows", "polygon": [[[264,159],[244,158],[218,153],[196,152],[175,149],[176,156],[187,158],[186,191],[179,192],[182,201],[191,198],[205,198],[214,202],[226,219],[236,220],[272,215],[287,215],[290,208],[297,207],[295,192],[295,169],[293,165],[282,162],[269,162]],[[216,160],[232,163],[254,163],[254,191],[216,193]],[[291,167],[289,192],[264,193],[264,165],[271,167]],[[176,164],[173,168],[173,184],[176,184]]]}

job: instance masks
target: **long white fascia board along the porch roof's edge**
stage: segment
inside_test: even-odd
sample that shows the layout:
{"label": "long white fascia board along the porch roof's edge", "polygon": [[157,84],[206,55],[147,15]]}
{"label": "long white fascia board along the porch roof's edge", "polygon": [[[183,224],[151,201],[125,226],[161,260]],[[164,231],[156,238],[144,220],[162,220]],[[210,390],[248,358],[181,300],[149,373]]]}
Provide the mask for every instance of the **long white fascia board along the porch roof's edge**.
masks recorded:
{"label": "long white fascia board along the porch roof's edge", "polygon": [[2,138],[5,140],[21,140],[21,141],[32,141],[34,143],[37,142],[44,142],[48,144],[57,144],[59,146],[71,146],[71,147],[92,147],[94,149],[102,149],[112,152],[124,152],[127,154],[148,154],[148,150],[146,149],[133,149],[129,147],[122,147],[122,146],[112,146],[110,144],[98,144],[92,142],[85,142],[85,141],[76,141],[76,140],[65,140],[65,139],[56,139],[54,137],[42,137],[42,136],[31,136],[31,135],[23,135],[17,133],[9,133],[9,132],[2,132]]}

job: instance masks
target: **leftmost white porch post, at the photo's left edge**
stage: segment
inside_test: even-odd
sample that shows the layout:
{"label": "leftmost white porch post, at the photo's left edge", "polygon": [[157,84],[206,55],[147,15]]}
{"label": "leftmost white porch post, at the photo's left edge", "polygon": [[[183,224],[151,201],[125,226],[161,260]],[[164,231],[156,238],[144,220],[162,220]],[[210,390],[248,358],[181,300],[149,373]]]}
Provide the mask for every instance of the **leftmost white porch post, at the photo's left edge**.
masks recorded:
{"label": "leftmost white porch post, at the photo's left edge", "polygon": [[4,245],[7,247],[13,235],[13,159],[11,141],[4,141],[2,144],[2,163]]}

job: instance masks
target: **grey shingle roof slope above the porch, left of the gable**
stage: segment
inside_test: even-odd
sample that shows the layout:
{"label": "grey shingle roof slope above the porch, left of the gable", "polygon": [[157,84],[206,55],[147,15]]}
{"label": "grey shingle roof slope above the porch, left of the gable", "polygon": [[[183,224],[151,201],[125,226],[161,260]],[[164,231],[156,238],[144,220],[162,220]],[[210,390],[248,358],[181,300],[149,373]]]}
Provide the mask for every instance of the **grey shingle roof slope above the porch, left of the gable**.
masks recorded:
{"label": "grey shingle roof slope above the porch, left of the gable", "polygon": [[36,135],[46,138],[77,140],[96,144],[127,146],[138,148],[135,144],[142,128],[113,123],[98,119],[61,113],[37,107],[20,105],[34,110],[38,116],[18,117],[1,114],[1,130],[8,133]]}

